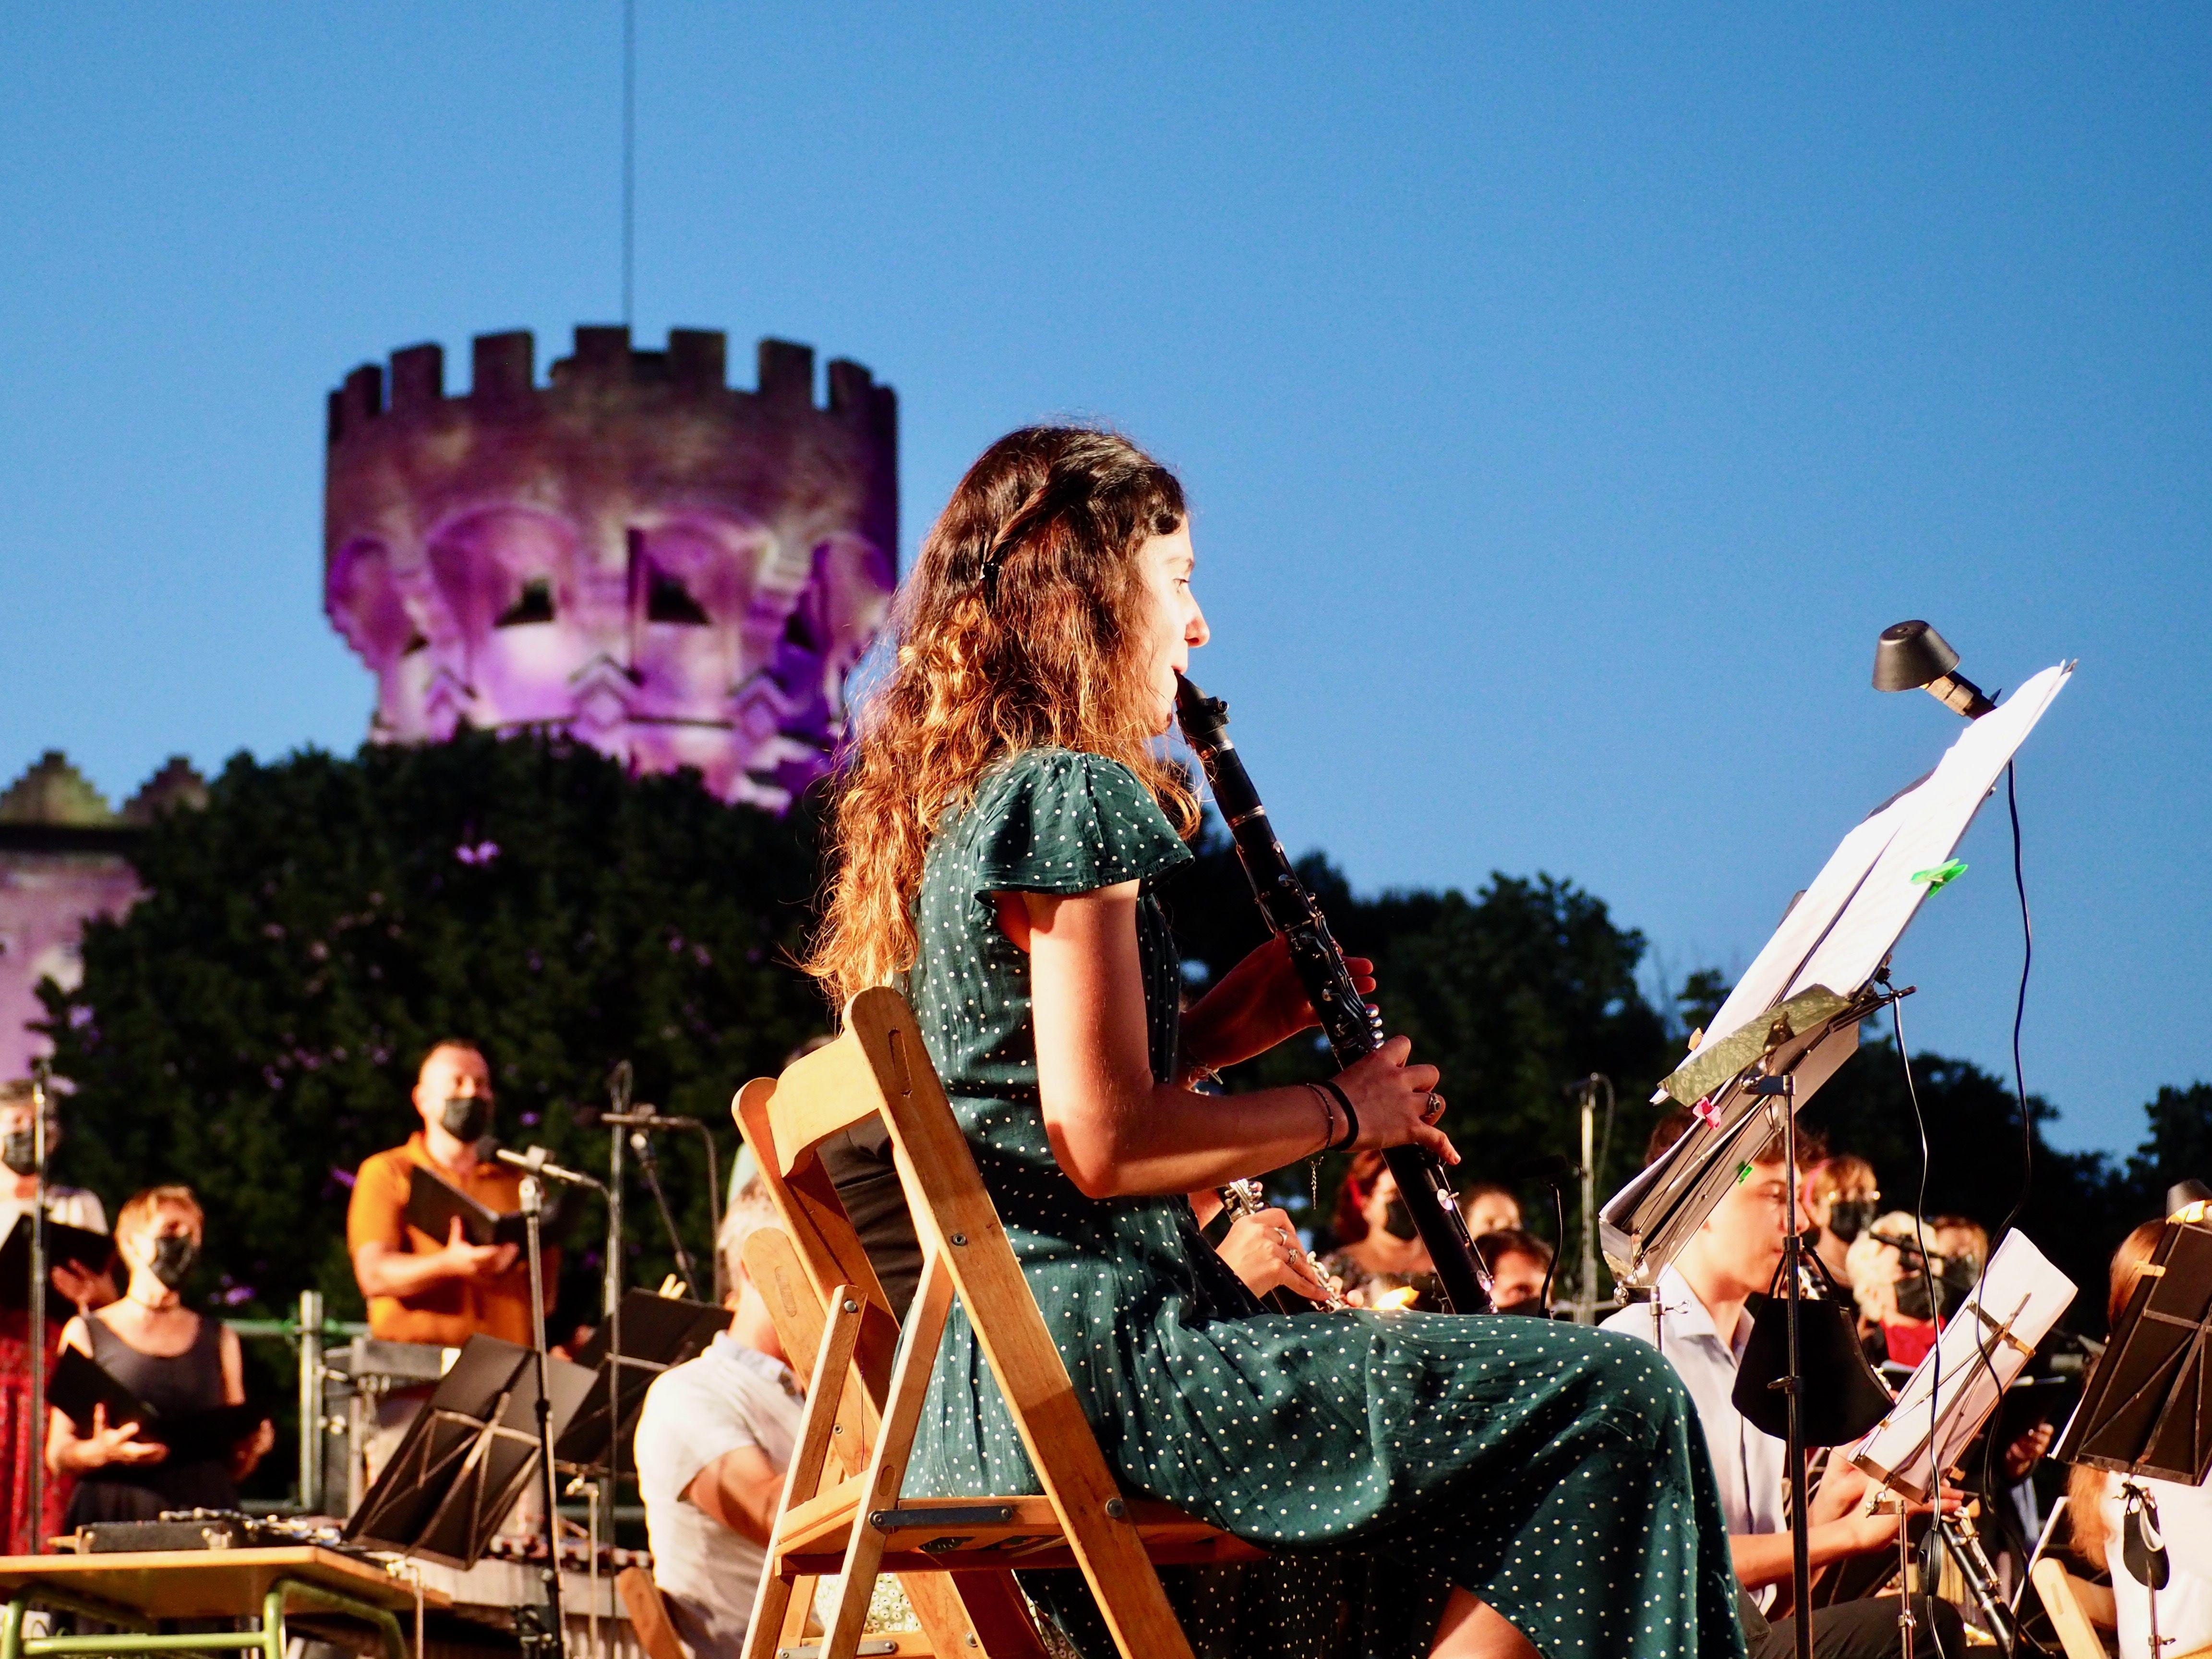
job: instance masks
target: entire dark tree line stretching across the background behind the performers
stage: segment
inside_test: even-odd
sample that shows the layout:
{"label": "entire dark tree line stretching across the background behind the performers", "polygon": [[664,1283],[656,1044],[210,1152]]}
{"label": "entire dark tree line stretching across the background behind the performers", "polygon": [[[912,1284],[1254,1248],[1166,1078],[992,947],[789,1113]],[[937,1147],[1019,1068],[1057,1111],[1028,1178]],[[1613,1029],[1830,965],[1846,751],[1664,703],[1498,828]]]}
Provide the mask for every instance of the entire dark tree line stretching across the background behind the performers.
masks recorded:
{"label": "entire dark tree line stretching across the background behind the performers", "polygon": [[[599,1168],[604,1130],[575,1121],[630,1060],[637,1097],[695,1115],[728,1155],[730,1093],[774,1073],[827,1009],[794,967],[816,896],[814,821],[728,807],[688,776],[628,776],[553,741],[462,734],[442,745],[234,759],[208,805],[166,814],[135,854],[146,898],[84,938],[84,980],[46,987],[55,1071],[75,1088],[66,1177],[117,1201],[190,1181],[210,1239],[195,1296],[283,1312],[321,1287],[358,1312],[345,1261],[347,1179],[405,1139],[414,1066],[445,1035],[478,1040],[500,1133]],[[1228,838],[1212,827],[1166,889],[1192,989],[1261,942]],[[1659,1004],[1646,942],[1555,876],[1495,874],[1475,894],[1354,894],[1323,856],[1301,863],[1343,945],[1378,967],[1378,1002],[1444,1071],[1458,1179],[1579,1157],[1568,1079],[1606,1073],[1617,1108],[1599,1194],[1641,1161],[1652,1086],[1725,993],[1694,973]],[[1927,1210],[2000,1223],[2022,1190],[2020,1110],[2004,1079],[1916,1055],[1929,1137]],[[1232,1088],[1323,1075],[1316,1042],[1285,1044]],[[2031,1099],[2035,1186],[2022,1223],[2079,1283],[2166,1186],[2212,1172],[2212,1086],[2161,1091],[2132,1161],[2057,1152]],[[1913,1208],[1920,1133],[1896,1051],[1869,1033],[1807,1106],[1836,1150],[1865,1155],[1885,1203]],[[701,1159],[666,1155],[688,1241],[706,1239]],[[1343,1161],[1325,1161],[1329,1183]],[[1307,1170],[1274,1177],[1292,1203]],[[1332,1208],[1329,1188],[1321,1188]],[[1573,1192],[1568,1206],[1573,1206]],[[1522,1186],[1548,1232],[1542,1188]],[[630,1283],[670,1265],[648,1203],[630,1210]],[[1573,1223],[1573,1212],[1571,1212]],[[568,1252],[573,1310],[597,1312],[599,1221]],[[2086,1298],[2095,1303],[2097,1298]]]}

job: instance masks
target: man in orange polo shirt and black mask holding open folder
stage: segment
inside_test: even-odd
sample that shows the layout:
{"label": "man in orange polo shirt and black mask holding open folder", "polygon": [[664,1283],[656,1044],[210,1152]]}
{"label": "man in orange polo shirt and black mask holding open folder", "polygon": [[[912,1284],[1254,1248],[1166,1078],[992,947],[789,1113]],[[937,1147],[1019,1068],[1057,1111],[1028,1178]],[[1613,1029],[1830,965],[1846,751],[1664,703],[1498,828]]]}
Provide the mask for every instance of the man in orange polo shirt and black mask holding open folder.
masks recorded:
{"label": "man in orange polo shirt and black mask holding open folder", "polygon": [[[369,1157],[354,1177],[345,1248],[369,1303],[369,1334],[387,1343],[460,1347],[478,1332],[531,1340],[531,1272],[511,1243],[471,1245],[460,1221],[447,1239],[407,1225],[414,1166],[458,1186],[480,1203],[522,1208],[522,1172],[480,1159],[491,1130],[491,1066],[471,1042],[447,1040],[422,1057],[414,1106],[422,1117],[407,1146]],[[560,1252],[544,1252],[546,1305],[560,1281]]]}

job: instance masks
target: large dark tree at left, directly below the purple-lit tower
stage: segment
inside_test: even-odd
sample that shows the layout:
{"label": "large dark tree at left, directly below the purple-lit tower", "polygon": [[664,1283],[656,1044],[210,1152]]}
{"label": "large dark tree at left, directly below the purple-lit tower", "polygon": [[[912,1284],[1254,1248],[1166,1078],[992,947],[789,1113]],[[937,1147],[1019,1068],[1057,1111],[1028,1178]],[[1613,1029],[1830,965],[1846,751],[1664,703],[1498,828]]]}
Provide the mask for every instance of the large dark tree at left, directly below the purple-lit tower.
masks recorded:
{"label": "large dark tree at left, directly below the purple-lit tower", "polygon": [[[730,1093],[825,1026],[790,964],[814,891],[805,818],[586,748],[462,734],[239,757],[135,863],[146,898],[86,931],[73,993],[46,987],[75,1086],[66,1155],[111,1206],[188,1181],[210,1234],[195,1292],[237,1312],[314,1285],[358,1316],[347,1183],[416,1126],[407,1091],[438,1037],[484,1046],[507,1141],[604,1168],[606,1133],[573,1113],[604,1102],[617,1060],[637,1099],[717,1126],[728,1159]],[[664,1161],[703,1250],[703,1159]],[[670,1254],[641,1192],[630,1219],[630,1281],[659,1283]],[[568,1250],[584,1318],[595,1228],[580,1217]]]}

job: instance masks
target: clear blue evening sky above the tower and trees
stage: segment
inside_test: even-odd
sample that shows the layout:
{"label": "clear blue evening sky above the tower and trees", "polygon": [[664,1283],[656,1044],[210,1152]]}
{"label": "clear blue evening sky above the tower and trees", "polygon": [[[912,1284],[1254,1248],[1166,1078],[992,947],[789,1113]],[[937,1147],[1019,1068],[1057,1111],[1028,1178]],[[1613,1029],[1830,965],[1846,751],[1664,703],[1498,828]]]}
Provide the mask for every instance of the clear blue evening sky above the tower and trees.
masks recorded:
{"label": "clear blue evening sky above the tower and trees", "polygon": [[[352,748],[319,611],[354,363],[619,321],[619,9],[0,15],[0,772]],[[1984,686],[2028,1084],[2124,1150],[2212,1077],[2212,13],[639,0],[637,332],[854,356],[911,553],[1011,425],[1197,502],[1245,754],[1360,887],[1571,876],[1741,969]],[[1900,949],[2004,1066],[2002,812]],[[1387,998],[1385,998],[1387,1002]]]}

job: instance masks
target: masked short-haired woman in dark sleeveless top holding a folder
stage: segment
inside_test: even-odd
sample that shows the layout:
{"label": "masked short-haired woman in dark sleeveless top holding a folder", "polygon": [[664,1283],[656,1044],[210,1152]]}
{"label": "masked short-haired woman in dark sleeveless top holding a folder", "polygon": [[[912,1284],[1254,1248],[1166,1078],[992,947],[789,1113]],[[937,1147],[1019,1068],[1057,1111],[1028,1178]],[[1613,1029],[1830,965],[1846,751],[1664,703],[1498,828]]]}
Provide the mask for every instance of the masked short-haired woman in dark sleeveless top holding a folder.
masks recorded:
{"label": "masked short-haired woman in dark sleeveless top holding a folder", "polygon": [[[122,1301],[80,1314],[62,1345],[93,1358],[164,1418],[192,1418],[246,1402],[246,1360],[226,1325],[201,1318],[179,1296],[199,1261],[204,1217],[186,1186],[139,1192],[115,1217],[115,1248],[131,1270]],[[274,1442],[268,1422],[228,1458],[175,1460],[166,1447],[137,1438],[135,1422],[106,1422],[95,1411],[80,1436],[66,1416],[46,1429],[46,1467],[75,1475],[69,1526],[157,1520],[164,1509],[237,1509],[239,1489]]]}

